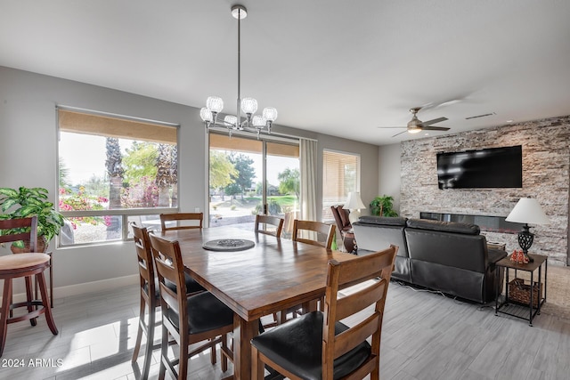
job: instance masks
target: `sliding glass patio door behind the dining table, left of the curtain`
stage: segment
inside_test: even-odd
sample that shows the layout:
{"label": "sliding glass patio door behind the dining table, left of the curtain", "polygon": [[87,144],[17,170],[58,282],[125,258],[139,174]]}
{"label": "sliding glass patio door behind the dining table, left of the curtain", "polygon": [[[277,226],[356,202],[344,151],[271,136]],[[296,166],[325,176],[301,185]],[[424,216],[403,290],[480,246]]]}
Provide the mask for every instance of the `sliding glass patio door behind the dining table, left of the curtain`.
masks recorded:
{"label": "sliding glass patio door behind the dining table, left of the curtain", "polygon": [[209,133],[209,226],[253,229],[256,214],[298,213],[298,144]]}

